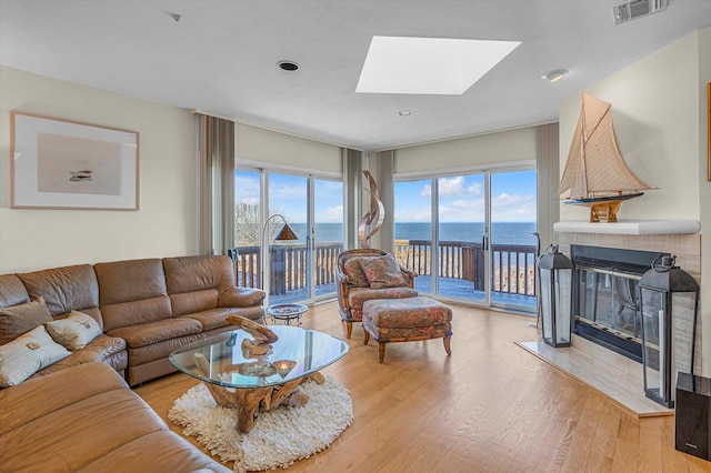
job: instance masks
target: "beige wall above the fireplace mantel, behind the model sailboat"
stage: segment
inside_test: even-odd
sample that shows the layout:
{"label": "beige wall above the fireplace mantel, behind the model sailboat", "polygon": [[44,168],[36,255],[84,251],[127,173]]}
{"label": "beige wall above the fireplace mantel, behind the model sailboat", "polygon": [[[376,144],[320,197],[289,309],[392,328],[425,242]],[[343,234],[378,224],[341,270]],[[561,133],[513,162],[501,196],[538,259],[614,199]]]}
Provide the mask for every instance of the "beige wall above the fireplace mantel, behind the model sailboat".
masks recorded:
{"label": "beige wall above the fireplace mantel, behind the model sailboat", "polygon": [[[701,320],[705,376],[711,376],[711,182],[707,181],[705,87],[711,81],[711,28],[691,33],[590,85],[612,103],[620,151],[630,169],[658,190],[622,203],[620,220],[701,222]],[[561,170],[580,111],[580,93],[560,104]],[[561,204],[561,220],[587,220],[588,209]],[[665,251],[675,251],[673,244]],[[697,246],[699,248],[699,246]]]}

